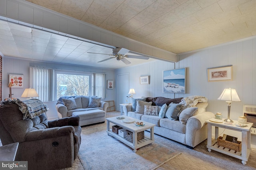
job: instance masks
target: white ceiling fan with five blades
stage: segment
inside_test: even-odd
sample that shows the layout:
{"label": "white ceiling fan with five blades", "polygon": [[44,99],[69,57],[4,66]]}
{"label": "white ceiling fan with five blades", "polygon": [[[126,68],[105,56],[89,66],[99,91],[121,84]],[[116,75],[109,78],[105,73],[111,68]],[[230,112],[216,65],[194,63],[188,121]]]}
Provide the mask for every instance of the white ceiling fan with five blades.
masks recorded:
{"label": "white ceiling fan with five blades", "polygon": [[[125,64],[130,64],[131,62],[128,61],[126,58],[133,58],[133,59],[144,59],[144,60],[148,60],[149,57],[146,56],[140,56],[140,55],[125,55],[126,53],[128,53],[130,50],[125,49],[125,48],[115,48],[112,49],[112,54],[103,54],[103,55],[110,55],[110,56],[114,56],[114,57],[110,57],[108,59],[102,60],[102,61],[98,61],[98,63],[101,63],[103,61],[107,61],[110,59],[114,59],[116,58],[117,61],[122,61]],[[87,53],[91,53],[91,52],[87,52]],[[102,54],[102,53],[93,53],[93,54]]]}

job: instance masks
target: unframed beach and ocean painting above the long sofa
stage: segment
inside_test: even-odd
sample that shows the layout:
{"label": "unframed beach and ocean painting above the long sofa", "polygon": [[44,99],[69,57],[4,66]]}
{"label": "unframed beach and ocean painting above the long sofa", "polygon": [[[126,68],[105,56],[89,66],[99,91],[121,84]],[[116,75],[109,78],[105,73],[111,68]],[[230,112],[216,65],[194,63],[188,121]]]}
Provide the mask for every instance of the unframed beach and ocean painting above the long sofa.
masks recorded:
{"label": "unframed beach and ocean painting above the long sofa", "polygon": [[186,68],[165,70],[163,72],[164,93],[186,93]]}

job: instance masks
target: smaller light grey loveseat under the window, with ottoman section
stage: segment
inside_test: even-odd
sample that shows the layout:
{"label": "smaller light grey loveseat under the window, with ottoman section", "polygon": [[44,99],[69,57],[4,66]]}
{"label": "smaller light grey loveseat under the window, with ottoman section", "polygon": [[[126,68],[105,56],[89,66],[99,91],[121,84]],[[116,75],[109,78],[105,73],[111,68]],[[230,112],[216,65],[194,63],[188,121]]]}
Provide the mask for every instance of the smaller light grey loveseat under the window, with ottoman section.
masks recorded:
{"label": "smaller light grey loveseat under the window, with ottoman section", "polygon": [[[106,118],[106,110],[108,107],[108,103],[104,101],[100,101],[98,107],[94,107],[94,106],[90,107],[90,97],[96,98],[96,96],[63,96],[61,97],[56,104],[58,118],[70,117],[72,115],[79,115],[81,126],[104,122]],[[65,103],[64,100],[71,103],[68,103],[68,102]],[[102,111],[104,111],[104,114],[102,114]]]}

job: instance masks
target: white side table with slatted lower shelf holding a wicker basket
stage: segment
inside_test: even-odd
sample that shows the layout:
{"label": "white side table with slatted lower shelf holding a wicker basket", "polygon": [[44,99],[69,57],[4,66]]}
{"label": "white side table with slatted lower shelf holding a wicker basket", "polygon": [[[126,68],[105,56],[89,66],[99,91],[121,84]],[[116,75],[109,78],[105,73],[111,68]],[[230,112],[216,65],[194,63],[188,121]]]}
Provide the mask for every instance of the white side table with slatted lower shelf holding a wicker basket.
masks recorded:
{"label": "white side table with slatted lower shelf holding a wicker basket", "polygon": [[[224,119],[222,119],[224,120]],[[233,120],[234,121],[234,120]],[[236,124],[238,121],[234,121],[232,125],[227,125],[223,121],[222,123],[215,123],[210,120],[207,120],[208,123],[208,137],[207,137],[207,148],[208,151],[211,152],[212,150],[216,150],[217,152],[221,152],[223,154],[227,154],[229,156],[233,156],[235,158],[241,159],[242,164],[246,164],[251,152],[251,128],[253,123],[246,123],[246,127],[238,127]],[[212,143],[212,126],[215,126],[215,139]],[[234,150],[230,150],[228,148],[223,149],[223,147],[219,147],[217,143],[217,138],[219,136],[219,127],[224,129],[230,129],[233,131],[240,131],[242,132],[242,150],[241,152],[234,152]]]}

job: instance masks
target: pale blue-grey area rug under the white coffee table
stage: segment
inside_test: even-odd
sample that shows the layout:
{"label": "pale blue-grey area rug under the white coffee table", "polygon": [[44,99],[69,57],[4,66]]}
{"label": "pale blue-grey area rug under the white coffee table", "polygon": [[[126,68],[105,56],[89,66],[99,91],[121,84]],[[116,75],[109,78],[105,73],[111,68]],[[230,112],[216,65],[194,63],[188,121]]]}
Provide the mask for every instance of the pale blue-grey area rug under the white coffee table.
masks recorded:
{"label": "pale blue-grey area rug under the white coffee table", "polygon": [[[145,135],[150,133],[145,132]],[[106,123],[82,129],[82,141],[78,157],[86,170],[150,170],[168,162],[180,152],[171,146],[155,142],[133,152],[133,149],[106,133]]]}

